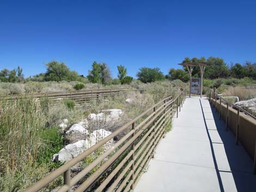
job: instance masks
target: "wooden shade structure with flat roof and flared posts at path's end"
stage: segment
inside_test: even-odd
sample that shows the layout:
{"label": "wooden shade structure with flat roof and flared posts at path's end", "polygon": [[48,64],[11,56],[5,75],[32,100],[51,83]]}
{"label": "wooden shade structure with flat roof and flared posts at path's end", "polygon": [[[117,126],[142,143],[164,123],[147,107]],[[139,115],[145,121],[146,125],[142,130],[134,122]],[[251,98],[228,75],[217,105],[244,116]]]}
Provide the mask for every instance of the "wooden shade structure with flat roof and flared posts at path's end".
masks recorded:
{"label": "wooden shade structure with flat roof and flared posts at path's end", "polygon": [[190,97],[191,97],[191,89],[192,89],[192,71],[194,66],[200,67],[200,75],[201,75],[201,84],[200,84],[200,97],[202,98],[203,94],[203,76],[206,65],[213,65],[212,63],[207,62],[189,62],[189,63],[180,63],[179,65],[186,66],[188,73],[190,73]]}

